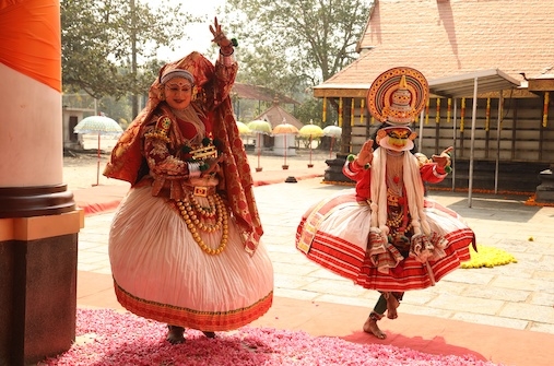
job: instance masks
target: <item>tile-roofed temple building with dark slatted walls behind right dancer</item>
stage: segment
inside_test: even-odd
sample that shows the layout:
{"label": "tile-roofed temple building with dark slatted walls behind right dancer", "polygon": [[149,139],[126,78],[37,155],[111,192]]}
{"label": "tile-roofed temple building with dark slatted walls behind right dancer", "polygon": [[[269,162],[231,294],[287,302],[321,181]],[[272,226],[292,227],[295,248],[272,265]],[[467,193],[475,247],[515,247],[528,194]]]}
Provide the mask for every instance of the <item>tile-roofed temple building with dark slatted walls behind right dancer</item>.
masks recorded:
{"label": "tile-roofed temple building with dark slatted walls behind right dancer", "polygon": [[341,154],[377,126],[364,105],[372,82],[411,67],[431,86],[420,149],[455,145],[444,186],[468,188],[474,163],[474,188],[534,191],[554,155],[552,14],[554,2],[541,0],[376,0],[359,57],[314,88],[340,111]]}

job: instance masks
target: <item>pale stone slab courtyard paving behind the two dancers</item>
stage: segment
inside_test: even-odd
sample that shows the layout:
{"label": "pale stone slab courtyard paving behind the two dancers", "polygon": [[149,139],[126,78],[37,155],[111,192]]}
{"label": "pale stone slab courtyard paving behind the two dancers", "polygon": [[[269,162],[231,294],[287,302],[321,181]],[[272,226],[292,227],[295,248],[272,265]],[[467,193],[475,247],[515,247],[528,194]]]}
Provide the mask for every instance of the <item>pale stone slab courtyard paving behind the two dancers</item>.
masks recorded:
{"label": "pale stone slab courtyard paving behind the two dancers", "polygon": [[[344,186],[305,179],[255,188],[267,245],[275,271],[275,296],[328,302],[370,310],[376,292],[364,290],[308,261],[294,248],[296,226],[315,202]],[[512,253],[517,263],[459,269],[436,286],[405,294],[400,314],[425,315],[554,334],[554,208],[527,206],[526,198],[429,196],[460,213],[478,243]],[[79,270],[109,274],[107,236],[113,212],[85,217],[79,234]],[[530,241],[529,237],[533,237]]]}

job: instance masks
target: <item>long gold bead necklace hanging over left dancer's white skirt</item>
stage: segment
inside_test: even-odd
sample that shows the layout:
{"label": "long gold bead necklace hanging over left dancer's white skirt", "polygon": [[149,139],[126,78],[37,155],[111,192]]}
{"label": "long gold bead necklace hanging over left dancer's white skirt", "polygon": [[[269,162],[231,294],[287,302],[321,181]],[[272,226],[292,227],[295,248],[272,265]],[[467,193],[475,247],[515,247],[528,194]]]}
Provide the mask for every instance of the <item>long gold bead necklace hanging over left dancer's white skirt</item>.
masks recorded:
{"label": "long gold bead necklace hanging over left dancer's white skirt", "polygon": [[[192,205],[188,201],[176,201],[177,208],[179,209],[179,212],[185,220],[185,223],[187,224],[187,227],[192,235],[192,238],[198,244],[198,246],[210,256],[216,256],[221,253],[228,241],[228,222],[227,222],[227,209],[225,204],[223,203],[223,200],[221,197],[215,193],[215,214],[217,216],[216,223],[213,225],[204,224],[198,219],[198,215],[195,214],[195,211],[192,210]],[[189,197],[190,198],[190,197]],[[198,203],[198,202],[197,202]],[[220,246],[215,249],[212,249],[208,247],[208,245],[202,240],[202,237],[200,236],[200,233],[198,231],[203,231],[208,233],[213,233],[215,231],[219,231],[220,228],[223,228],[222,236],[221,236],[221,243]]]}

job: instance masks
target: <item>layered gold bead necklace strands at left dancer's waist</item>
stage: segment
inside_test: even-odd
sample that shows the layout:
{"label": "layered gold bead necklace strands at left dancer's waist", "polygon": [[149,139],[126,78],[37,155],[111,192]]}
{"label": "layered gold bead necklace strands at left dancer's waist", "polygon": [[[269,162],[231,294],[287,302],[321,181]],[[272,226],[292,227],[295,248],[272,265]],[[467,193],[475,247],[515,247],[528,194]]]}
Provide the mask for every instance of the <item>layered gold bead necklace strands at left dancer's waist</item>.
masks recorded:
{"label": "layered gold bead necklace strands at left dancer's waist", "polygon": [[[176,201],[180,215],[187,223],[187,227],[192,235],[192,238],[198,246],[210,256],[216,256],[225,249],[228,240],[228,223],[227,223],[227,209],[223,203],[220,194],[215,193],[208,197],[209,208],[202,208],[195,199],[192,193],[189,193],[187,201]],[[204,223],[205,219],[215,217],[215,224]],[[223,228],[220,246],[215,249],[209,248],[202,240],[199,231],[205,233],[213,233]]]}

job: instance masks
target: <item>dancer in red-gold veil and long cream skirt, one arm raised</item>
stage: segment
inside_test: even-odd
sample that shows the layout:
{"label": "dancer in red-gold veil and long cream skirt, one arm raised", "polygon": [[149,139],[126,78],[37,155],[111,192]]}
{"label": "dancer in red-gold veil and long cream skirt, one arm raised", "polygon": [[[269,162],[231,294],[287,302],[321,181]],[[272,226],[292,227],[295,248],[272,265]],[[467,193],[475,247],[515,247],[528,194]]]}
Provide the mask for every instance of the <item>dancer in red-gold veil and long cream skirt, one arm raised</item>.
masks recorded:
{"label": "dancer in red-gold veil and long cream skirt, one arm raised", "polygon": [[131,184],[109,233],[117,298],[167,323],[172,343],[185,341],[185,328],[213,338],[248,324],[273,299],[273,268],[228,96],[236,42],[217,20],[210,29],[221,48],[215,64],[192,52],[162,68],[104,172]]}

